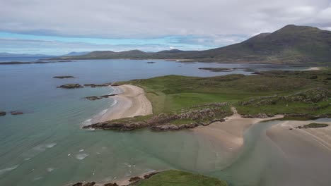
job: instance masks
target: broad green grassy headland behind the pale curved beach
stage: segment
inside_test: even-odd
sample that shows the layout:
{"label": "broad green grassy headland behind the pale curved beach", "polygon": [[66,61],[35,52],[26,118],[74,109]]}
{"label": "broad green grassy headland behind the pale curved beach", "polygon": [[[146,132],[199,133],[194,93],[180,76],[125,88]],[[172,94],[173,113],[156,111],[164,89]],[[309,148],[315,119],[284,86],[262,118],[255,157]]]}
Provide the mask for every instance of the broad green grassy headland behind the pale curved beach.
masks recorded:
{"label": "broad green grassy headland behind the pale curved beach", "polygon": [[[245,115],[331,113],[331,70],[329,69],[269,71],[263,75],[218,77],[167,75],[125,83],[145,89],[155,114],[176,112],[214,102],[228,102],[230,106],[235,106],[239,113]],[[277,99],[268,98],[275,95]],[[245,101],[252,103],[243,105]]]}

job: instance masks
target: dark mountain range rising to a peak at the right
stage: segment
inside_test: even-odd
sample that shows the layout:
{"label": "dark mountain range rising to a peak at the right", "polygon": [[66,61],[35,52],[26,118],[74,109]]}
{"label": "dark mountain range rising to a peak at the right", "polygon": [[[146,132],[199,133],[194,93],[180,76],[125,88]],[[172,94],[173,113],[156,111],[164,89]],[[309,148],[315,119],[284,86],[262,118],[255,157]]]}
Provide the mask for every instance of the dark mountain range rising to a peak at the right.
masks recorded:
{"label": "dark mountain range rising to a peak at the right", "polygon": [[262,33],[250,39],[205,51],[93,51],[69,59],[192,59],[228,63],[316,63],[331,62],[331,32],[317,27],[287,25],[272,33]]}

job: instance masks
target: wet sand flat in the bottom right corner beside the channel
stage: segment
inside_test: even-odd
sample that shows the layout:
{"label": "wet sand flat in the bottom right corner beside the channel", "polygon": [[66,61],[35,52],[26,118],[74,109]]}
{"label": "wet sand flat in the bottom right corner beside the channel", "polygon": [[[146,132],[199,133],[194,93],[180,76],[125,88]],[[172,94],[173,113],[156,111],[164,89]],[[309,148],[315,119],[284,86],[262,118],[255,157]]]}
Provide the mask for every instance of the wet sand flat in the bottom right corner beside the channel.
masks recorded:
{"label": "wet sand flat in the bottom right corner beside the channel", "polygon": [[284,170],[289,171],[283,185],[330,185],[331,127],[295,128],[309,123],[312,122],[284,121],[267,130],[284,158]]}

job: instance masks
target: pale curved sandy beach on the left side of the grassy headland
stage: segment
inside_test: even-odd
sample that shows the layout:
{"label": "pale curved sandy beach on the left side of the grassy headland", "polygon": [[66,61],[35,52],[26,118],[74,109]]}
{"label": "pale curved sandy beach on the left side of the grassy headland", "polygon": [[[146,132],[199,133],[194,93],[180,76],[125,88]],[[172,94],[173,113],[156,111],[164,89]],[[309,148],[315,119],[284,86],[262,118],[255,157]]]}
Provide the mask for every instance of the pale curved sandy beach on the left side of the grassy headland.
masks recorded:
{"label": "pale curved sandy beach on the left side of the grassy headland", "polygon": [[151,102],[146,98],[144,89],[134,85],[120,85],[116,88],[121,90],[120,94],[112,97],[117,103],[108,109],[101,118],[98,118],[98,122],[146,116],[153,113]]}

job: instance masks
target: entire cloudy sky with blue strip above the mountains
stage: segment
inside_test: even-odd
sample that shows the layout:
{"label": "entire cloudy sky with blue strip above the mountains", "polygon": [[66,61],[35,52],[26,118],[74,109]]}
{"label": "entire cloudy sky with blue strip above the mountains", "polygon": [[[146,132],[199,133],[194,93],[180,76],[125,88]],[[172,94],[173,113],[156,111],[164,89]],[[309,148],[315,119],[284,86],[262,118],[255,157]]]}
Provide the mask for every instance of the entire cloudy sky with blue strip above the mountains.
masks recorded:
{"label": "entire cloudy sky with blue strip above the mountains", "polygon": [[331,30],[331,0],[0,0],[0,52],[201,50],[284,25]]}

